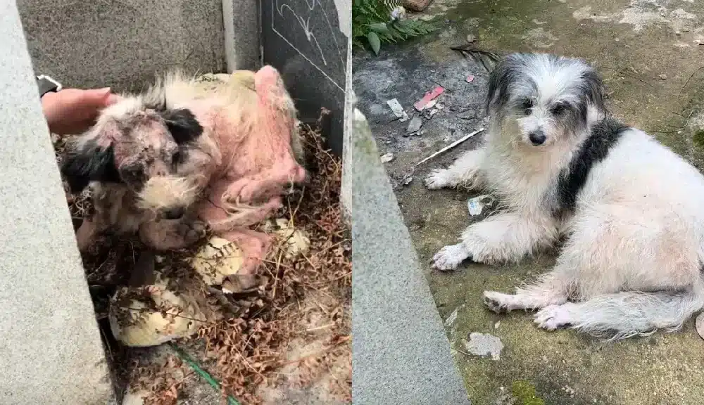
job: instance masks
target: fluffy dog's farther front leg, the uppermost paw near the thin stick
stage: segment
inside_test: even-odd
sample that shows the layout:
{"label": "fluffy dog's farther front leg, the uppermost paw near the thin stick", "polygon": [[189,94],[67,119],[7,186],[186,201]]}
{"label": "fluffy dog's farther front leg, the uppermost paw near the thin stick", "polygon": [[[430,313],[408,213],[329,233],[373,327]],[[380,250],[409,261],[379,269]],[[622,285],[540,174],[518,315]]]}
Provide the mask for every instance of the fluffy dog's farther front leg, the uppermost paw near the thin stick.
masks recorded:
{"label": "fluffy dog's farther front leg, the uppermost paw near the thin stick", "polygon": [[484,148],[470,150],[461,155],[447,169],[435,169],[425,178],[425,186],[431,190],[462,186],[476,189],[484,184],[480,167],[484,159]]}

